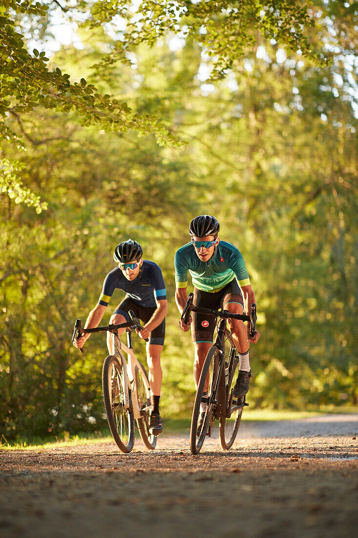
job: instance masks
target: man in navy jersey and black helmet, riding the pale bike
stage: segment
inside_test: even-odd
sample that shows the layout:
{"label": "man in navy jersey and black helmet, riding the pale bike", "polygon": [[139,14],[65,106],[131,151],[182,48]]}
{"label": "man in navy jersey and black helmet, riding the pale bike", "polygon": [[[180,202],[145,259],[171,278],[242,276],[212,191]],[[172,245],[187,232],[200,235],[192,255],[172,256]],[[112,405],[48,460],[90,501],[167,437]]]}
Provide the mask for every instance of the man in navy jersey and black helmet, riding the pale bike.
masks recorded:
{"label": "man in navy jersey and black helmet, riding the pale bike", "polygon": [[[116,246],[113,258],[118,262],[118,267],[110,271],[104,279],[98,303],[89,313],[84,328],[91,329],[99,325],[116,288],[126,293],[124,300],[114,310],[110,323],[130,321],[128,315],[130,310],[133,310],[134,314],[144,323],[142,330],[138,331],[137,329],[137,332],[141,338],[149,338],[146,344],[152,407],[149,430],[153,435],[159,435],[162,431],[162,421],[159,414],[162,385],[160,356],[164,344],[167,296],[160,267],[153,261],[144,260],[142,254],[142,247],[132,239],[123,241]],[[118,334],[124,330],[119,329]],[[89,336],[90,334],[83,334],[80,338],[75,338],[74,346],[82,348]],[[109,332],[107,346],[110,354],[113,355],[114,346]]]}

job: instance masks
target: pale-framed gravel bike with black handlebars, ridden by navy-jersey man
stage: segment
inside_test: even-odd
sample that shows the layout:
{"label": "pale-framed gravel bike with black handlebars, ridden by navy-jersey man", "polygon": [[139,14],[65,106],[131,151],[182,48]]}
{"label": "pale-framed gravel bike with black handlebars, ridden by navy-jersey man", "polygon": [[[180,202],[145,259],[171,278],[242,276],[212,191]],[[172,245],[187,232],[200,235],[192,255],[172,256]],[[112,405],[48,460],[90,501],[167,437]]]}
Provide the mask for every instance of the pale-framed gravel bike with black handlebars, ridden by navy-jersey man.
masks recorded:
{"label": "pale-framed gravel bike with black handlebars, ridden by navy-jersey man", "polygon": [[[137,421],[142,441],[147,449],[153,450],[156,437],[149,431],[151,391],[145,367],[135,357],[132,346],[132,329],[141,330],[140,321],[134,312],[128,312],[132,321],[95,327],[82,328],[81,320],[76,320],[72,342],[75,336],[84,332],[109,331],[116,353],[105,358],[102,369],[103,400],[108,424],[118,448],[131,452],[134,445],[134,420]],[[120,341],[118,329],[126,329],[127,345]],[[146,342],[148,338],[146,338]],[[82,351],[82,349],[80,350]],[[123,353],[127,353],[127,360]]]}

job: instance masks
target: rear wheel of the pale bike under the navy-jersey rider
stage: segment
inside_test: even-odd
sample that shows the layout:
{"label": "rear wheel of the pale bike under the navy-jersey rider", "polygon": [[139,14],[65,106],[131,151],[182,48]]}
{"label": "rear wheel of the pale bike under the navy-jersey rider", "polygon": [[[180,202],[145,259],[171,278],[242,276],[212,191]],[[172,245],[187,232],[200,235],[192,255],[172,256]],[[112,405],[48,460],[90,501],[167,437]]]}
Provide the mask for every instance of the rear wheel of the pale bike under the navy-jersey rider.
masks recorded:
{"label": "rear wheel of the pale bike under the navy-jersey rider", "polygon": [[134,386],[137,392],[138,405],[141,417],[137,419],[137,426],[142,441],[148,450],[154,450],[156,445],[156,436],[149,432],[149,408],[151,406],[151,390],[147,372],[142,364],[141,368],[135,367]]}

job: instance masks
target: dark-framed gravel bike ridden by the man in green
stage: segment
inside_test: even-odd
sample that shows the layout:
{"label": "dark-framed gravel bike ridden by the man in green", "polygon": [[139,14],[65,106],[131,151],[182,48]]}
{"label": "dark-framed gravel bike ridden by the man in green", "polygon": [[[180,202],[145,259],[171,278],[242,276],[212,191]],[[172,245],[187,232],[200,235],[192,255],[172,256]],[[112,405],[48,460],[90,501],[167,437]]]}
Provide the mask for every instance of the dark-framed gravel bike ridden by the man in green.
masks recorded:
{"label": "dark-framed gravel bike ridden by the man in green", "polygon": [[[192,304],[194,294],[189,293],[188,301],[183,309],[182,320],[188,323],[190,312],[208,314],[219,318],[217,321],[216,339],[207,352],[198,387],[196,390],[194,408],[190,428],[190,451],[199,454],[205,436],[211,436],[213,423],[219,420],[219,438],[223,450],[232,447],[240,426],[242,410],[248,404],[246,397],[234,398],[232,389],[235,385],[235,373],[238,373],[239,357],[233,343],[231,332],[226,327],[230,318],[249,321],[250,336],[255,334],[256,305],[251,306],[251,315],[234,314],[227,310],[211,310],[195,307]],[[201,415],[200,405],[206,404],[202,427],[198,428]]]}

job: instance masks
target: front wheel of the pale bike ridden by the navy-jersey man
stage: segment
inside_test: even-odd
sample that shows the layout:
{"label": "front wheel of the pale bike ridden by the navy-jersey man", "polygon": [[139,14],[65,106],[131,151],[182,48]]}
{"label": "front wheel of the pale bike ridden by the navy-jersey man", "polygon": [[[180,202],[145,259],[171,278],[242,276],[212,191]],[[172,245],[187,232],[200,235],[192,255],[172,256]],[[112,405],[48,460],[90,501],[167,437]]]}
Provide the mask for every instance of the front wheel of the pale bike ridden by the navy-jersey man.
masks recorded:
{"label": "front wheel of the pale bike ridden by the navy-jersey man", "polygon": [[129,409],[125,407],[125,375],[116,357],[106,357],[102,370],[104,407],[113,439],[127,454],[134,445],[134,413],[131,400]]}

